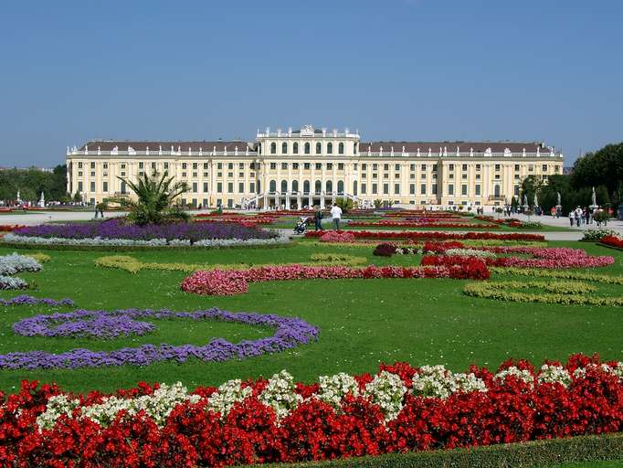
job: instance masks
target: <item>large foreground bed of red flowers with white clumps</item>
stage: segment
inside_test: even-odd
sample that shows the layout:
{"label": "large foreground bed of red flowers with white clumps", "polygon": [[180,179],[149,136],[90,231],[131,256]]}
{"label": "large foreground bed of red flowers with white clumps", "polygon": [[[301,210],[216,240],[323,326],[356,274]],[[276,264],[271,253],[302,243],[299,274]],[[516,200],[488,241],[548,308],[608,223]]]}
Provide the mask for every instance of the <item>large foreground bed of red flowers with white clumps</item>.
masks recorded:
{"label": "large foreground bed of red flowers with white clumps", "polygon": [[139,384],[111,395],[24,382],[5,398],[0,463],[23,466],[224,466],[301,462],[617,432],[623,363],[509,360],[470,367],[381,365],[295,383],[218,388]]}

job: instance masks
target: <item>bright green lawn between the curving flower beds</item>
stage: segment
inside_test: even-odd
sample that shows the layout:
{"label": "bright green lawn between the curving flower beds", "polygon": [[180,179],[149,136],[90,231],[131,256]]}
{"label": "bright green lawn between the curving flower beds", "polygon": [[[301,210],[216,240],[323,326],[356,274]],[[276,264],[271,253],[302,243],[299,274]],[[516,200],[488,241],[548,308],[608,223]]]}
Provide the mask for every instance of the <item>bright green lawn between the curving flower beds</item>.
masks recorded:
{"label": "bright green lawn between the curving flower beds", "polygon": [[[593,254],[614,255],[617,264],[607,269],[623,274],[623,251],[589,243],[551,242],[554,246],[586,249]],[[284,263],[309,261],[311,253],[339,251],[366,255],[378,264],[417,264],[419,256],[378,258],[368,249],[314,246],[301,242],[276,249],[138,251],[143,261],[213,263]],[[0,248],[0,254],[13,250]],[[32,250],[29,250],[32,251]],[[45,251],[45,250],[44,250]],[[27,252],[26,252],[27,253]],[[616,307],[562,306],[541,303],[501,303],[461,293],[463,281],[455,280],[343,280],[252,283],[249,292],[231,297],[183,293],[185,274],[170,271],[103,270],[93,260],[110,252],[47,252],[52,260],[44,271],[22,273],[37,284],[31,291],[39,297],[70,297],[79,308],[170,308],[178,311],[218,306],[247,311],[298,316],[321,329],[320,340],[290,352],[244,361],[184,364],[164,363],[150,367],[108,367],[78,370],[0,371],[0,389],[14,390],[23,378],[57,381],[64,388],[111,390],[131,387],[139,380],[173,382],[189,387],[216,385],[229,378],[269,376],[286,368],[295,378],[315,380],[339,371],[374,372],[381,361],[407,360],[415,365],[446,364],[464,369],[471,363],[497,367],[509,356],[564,359],[571,353],[600,353],[623,359],[621,310]],[[124,254],[128,254],[124,252]],[[615,293],[613,286],[603,287]],[[620,288],[619,288],[620,289]],[[16,295],[4,292],[2,297]],[[15,335],[12,325],[20,318],[45,313],[45,307],[0,308],[0,353],[26,350],[61,352],[84,346],[114,349],[140,343],[205,344],[223,336],[238,341],[269,335],[270,330],[241,324],[182,321],[154,322],[158,330],[141,338],[70,340],[29,338]]]}

